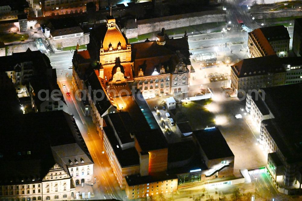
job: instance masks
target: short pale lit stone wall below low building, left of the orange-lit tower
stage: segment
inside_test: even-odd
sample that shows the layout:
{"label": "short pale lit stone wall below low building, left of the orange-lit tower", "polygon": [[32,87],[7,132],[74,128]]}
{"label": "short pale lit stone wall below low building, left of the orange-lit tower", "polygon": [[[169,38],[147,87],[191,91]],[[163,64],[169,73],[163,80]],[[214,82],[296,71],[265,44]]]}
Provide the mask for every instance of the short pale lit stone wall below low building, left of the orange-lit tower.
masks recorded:
{"label": "short pale lit stone wall below low building, left of the orange-lit tower", "polygon": [[53,40],[52,38],[50,38],[49,41],[52,44],[52,46],[56,49],[76,46],[77,43],[79,43],[79,45],[86,45],[89,43],[89,33],[84,34],[81,37],[63,38],[57,40]]}

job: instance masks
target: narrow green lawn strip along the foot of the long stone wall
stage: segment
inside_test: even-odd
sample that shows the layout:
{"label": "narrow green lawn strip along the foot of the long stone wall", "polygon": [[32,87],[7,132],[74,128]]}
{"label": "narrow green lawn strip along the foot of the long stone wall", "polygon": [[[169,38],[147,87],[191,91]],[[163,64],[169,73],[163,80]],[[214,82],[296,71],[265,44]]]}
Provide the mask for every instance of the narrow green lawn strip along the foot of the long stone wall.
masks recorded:
{"label": "narrow green lawn strip along the foot of the long stone wall", "polygon": [[[205,24],[198,24],[198,25],[192,25],[187,27],[179,27],[175,29],[167,29],[165,30],[165,33],[169,35],[169,37],[173,37],[175,34],[185,34],[185,31],[188,30],[188,35],[192,36],[193,34],[201,34],[204,31],[208,29],[214,29],[214,28],[220,28],[221,26],[226,25],[226,22],[212,22],[212,23],[205,23]],[[216,30],[214,32],[219,32],[220,30]],[[159,32],[159,31],[158,31]],[[156,37],[157,32],[147,33],[147,34],[141,34],[138,35],[137,38],[130,38],[129,43],[137,42],[139,40],[146,40],[147,38],[151,39],[153,37]]]}

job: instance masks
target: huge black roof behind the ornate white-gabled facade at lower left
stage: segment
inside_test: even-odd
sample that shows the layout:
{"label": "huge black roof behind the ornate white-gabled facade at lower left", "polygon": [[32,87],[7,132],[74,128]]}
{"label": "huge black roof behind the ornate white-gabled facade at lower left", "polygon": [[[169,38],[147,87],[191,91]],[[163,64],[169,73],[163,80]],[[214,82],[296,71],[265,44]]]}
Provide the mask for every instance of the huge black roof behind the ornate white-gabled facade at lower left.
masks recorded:
{"label": "huge black roof behind the ornate white-gabled facade at lower left", "polygon": [[68,172],[67,164],[58,155],[67,156],[69,145],[77,145],[72,154],[80,153],[85,163],[92,161],[75,121],[63,110],[21,114],[1,121],[0,181],[3,183],[40,181],[56,163]]}

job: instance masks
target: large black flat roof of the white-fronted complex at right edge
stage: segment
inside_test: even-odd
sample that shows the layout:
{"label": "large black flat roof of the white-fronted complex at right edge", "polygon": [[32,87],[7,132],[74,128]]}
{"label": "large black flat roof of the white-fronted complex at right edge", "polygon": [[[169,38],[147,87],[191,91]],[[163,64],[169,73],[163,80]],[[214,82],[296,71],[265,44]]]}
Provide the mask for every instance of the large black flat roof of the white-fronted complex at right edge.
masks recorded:
{"label": "large black flat roof of the white-fronted complex at right edge", "polygon": [[286,160],[302,161],[301,110],[298,109],[302,99],[297,98],[297,93],[302,91],[302,83],[262,90],[265,92],[265,103],[274,116],[262,123]]}

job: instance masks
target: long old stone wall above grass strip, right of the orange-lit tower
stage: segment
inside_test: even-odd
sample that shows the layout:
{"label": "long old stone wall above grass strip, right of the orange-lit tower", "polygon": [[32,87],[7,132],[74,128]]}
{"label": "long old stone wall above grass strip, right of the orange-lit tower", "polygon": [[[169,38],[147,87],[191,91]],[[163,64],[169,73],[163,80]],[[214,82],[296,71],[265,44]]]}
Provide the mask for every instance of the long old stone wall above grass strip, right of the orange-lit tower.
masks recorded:
{"label": "long old stone wall above grass strip, right of the orange-lit tower", "polygon": [[202,11],[181,15],[173,15],[162,18],[138,20],[138,35],[160,31],[162,28],[174,29],[210,22],[226,21],[225,12],[220,10]]}

